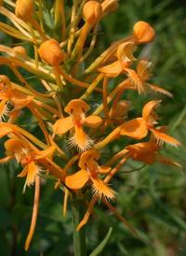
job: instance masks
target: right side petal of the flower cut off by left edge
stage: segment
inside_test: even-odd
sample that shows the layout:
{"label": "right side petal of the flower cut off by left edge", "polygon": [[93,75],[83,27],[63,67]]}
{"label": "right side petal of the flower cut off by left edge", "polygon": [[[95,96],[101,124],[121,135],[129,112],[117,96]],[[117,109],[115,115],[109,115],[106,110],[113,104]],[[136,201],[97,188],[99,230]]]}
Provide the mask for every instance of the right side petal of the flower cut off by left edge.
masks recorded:
{"label": "right side petal of the flower cut off by left edge", "polygon": [[33,101],[33,98],[34,98],[33,96],[19,92],[16,89],[11,90],[10,100],[14,104],[26,106],[27,104]]}

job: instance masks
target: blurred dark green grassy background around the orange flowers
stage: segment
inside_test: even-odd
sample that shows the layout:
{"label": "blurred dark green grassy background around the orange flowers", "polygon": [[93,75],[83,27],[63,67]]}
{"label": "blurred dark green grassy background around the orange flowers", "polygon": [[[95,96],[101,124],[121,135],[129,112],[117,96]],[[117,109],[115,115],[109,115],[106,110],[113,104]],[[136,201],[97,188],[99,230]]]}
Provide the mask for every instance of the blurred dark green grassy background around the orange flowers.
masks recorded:
{"label": "blurred dark green grassy background around the orange flowers", "polygon": [[[129,118],[141,115],[141,108],[149,100],[163,99],[158,115],[160,125],[168,125],[169,135],[181,142],[179,149],[166,147],[160,154],[183,165],[183,172],[163,164],[153,166],[128,162],[112,179],[112,187],[118,192],[113,206],[138,231],[131,234],[125,223],[103,204],[94,207],[97,219],[86,225],[87,255],[95,249],[109,228],[112,235],[100,255],[107,256],[185,256],[186,255],[186,3],[174,0],[121,0],[116,13],[100,24],[104,35],[99,37],[100,51],[115,40],[131,35],[136,21],[149,22],[155,32],[155,40],[141,45],[135,57],[151,56],[154,77],[151,83],[172,92],[174,98],[147,93],[126,93],[134,109]],[[0,17],[3,19],[2,17]],[[1,43],[10,44],[11,38],[2,33]],[[139,54],[139,55],[138,55]],[[7,74],[1,67],[1,73]],[[124,143],[122,145],[122,143]],[[117,151],[128,142],[108,150]],[[1,155],[2,157],[2,155]],[[105,154],[105,161],[109,156]],[[143,166],[143,167],[142,167]],[[142,167],[142,168],[140,168]],[[140,168],[132,173],[122,173]],[[0,254],[1,255],[73,255],[73,230],[71,208],[62,216],[63,192],[54,190],[52,180],[42,180],[41,198],[36,229],[29,251],[24,251],[32,210],[33,189],[22,194],[23,178],[16,178],[20,169],[15,162],[1,166],[0,170]],[[16,252],[15,252],[16,251]]]}

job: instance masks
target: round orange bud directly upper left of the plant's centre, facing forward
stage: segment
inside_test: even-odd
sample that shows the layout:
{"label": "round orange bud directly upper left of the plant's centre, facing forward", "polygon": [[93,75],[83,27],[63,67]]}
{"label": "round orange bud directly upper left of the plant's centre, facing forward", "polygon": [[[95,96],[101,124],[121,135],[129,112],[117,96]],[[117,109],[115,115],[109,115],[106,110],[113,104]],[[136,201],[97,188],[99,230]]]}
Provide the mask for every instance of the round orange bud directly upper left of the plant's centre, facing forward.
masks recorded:
{"label": "round orange bud directly upper left of the plant's centre, facing forward", "polygon": [[59,65],[64,59],[60,44],[55,39],[46,40],[39,48],[39,55],[47,64]]}

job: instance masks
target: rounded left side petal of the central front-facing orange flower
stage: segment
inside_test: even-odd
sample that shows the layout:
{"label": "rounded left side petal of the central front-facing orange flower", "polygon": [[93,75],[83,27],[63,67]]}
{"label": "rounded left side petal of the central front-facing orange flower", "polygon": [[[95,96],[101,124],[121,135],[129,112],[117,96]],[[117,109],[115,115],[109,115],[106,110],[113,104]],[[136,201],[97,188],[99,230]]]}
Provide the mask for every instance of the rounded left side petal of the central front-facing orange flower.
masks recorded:
{"label": "rounded left side petal of the central front-facing orange flower", "polygon": [[73,120],[71,117],[60,119],[53,125],[53,131],[59,135],[66,134],[71,128],[73,128]]}

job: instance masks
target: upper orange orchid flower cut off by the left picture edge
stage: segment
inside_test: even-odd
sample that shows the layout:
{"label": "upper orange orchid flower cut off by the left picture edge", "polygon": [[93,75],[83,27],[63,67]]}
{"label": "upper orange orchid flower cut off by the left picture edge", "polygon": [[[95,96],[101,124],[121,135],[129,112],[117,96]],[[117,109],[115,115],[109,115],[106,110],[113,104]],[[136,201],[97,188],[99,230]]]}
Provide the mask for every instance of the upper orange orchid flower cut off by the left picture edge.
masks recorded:
{"label": "upper orange orchid flower cut off by the left picture edge", "polygon": [[0,116],[4,118],[4,115],[7,115],[9,110],[7,107],[7,101],[15,105],[13,110],[19,111],[22,107],[25,107],[30,102],[33,101],[33,96],[27,95],[20,92],[17,89],[11,88],[11,81],[4,75],[0,76]]}

